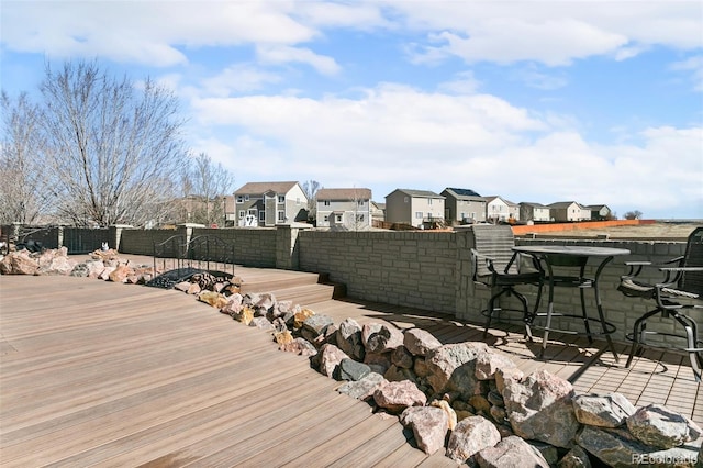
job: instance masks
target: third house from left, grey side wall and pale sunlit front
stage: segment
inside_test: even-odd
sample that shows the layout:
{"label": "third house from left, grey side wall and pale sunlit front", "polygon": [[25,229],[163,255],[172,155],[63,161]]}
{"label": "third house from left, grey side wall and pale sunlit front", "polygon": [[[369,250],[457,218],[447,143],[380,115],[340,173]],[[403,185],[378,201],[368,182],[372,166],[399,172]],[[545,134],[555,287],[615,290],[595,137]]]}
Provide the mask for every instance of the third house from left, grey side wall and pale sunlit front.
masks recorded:
{"label": "third house from left, grey side wall and pale sunlit front", "polygon": [[386,221],[432,226],[444,221],[444,197],[429,190],[395,189],[386,196]]}

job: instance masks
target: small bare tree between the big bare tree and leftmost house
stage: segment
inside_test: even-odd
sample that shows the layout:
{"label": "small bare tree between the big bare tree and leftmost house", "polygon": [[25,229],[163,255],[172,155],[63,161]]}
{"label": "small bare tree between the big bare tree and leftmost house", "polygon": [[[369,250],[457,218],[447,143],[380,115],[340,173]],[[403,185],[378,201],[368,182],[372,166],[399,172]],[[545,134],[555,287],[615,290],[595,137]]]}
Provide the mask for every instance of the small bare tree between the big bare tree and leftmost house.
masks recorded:
{"label": "small bare tree between the big bare tree and leftmost house", "polygon": [[192,158],[183,180],[189,221],[224,225],[224,197],[234,191],[234,175],[205,153]]}

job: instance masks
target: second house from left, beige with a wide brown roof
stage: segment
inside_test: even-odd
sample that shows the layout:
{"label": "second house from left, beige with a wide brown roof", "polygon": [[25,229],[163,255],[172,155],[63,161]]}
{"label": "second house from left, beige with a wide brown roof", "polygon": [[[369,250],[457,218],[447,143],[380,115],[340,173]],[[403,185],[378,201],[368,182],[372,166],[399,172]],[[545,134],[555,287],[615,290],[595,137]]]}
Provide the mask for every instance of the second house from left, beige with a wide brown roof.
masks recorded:
{"label": "second house from left, beige with a wide brown roof", "polygon": [[320,189],[317,227],[339,231],[366,231],[371,226],[371,190]]}

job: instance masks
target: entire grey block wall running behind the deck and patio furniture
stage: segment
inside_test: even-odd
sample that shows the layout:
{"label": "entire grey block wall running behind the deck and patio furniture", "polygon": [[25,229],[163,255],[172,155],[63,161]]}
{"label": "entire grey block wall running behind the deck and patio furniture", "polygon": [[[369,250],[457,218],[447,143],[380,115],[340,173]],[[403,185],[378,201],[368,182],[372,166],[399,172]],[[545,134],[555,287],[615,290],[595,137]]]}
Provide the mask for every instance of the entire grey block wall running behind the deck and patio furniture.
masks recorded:
{"label": "entire grey block wall running behind the deck and patio furniture", "polygon": [[[154,242],[176,234],[174,230],[124,230],[120,252],[152,255]],[[236,263],[245,266],[300,269],[328,274],[333,281],[346,286],[347,294],[369,301],[417,308],[451,314],[458,320],[483,323],[490,292],[471,279],[470,248],[472,235],[458,232],[330,232],[286,229],[194,229],[193,235],[217,235],[235,246]],[[627,248],[632,255],[615,257],[600,280],[601,300],[607,321],[617,331],[615,341],[624,342],[635,320],[651,308],[645,300],[626,298],[618,290],[620,277],[627,271],[625,261],[652,260],[661,263],[683,255],[683,242],[651,241],[570,241],[516,238],[517,245],[553,243],[560,245],[590,245]],[[596,265],[587,267],[587,275],[595,274]],[[656,272],[648,275],[656,280]],[[536,300],[536,288],[521,287],[531,301]],[[593,291],[584,290],[590,312],[595,312]],[[501,303],[504,309],[518,305],[514,298]],[[540,311],[547,307],[547,290],[543,293]],[[580,313],[578,289],[557,288],[555,311]],[[695,317],[703,323],[703,316]],[[657,322],[659,324],[657,325]],[[655,320],[650,328],[672,332],[669,320]],[[593,324],[598,326],[598,324]],[[573,319],[556,320],[554,326],[581,331]],[[535,331],[537,336],[540,331]],[[665,338],[669,339],[669,338]],[[669,339],[671,341],[671,339]]]}

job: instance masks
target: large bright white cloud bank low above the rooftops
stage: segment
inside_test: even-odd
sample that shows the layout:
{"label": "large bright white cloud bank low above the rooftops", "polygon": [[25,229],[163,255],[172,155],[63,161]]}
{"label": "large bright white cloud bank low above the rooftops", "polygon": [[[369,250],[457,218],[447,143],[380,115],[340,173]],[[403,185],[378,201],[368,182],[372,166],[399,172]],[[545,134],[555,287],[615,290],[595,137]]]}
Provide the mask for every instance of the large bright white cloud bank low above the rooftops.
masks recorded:
{"label": "large bright white cloud bank low above the rooftops", "polygon": [[[256,160],[241,174],[247,180],[354,180],[378,200],[399,187],[466,187],[516,202],[576,200],[622,213],[703,216],[701,127],[652,127],[626,144],[599,145],[572,130],[570,116],[535,116],[489,94],[390,83],[360,99],[200,99],[193,114],[200,125],[235,135],[227,143],[236,148],[233,167]],[[246,149],[238,135],[247,135]]]}

